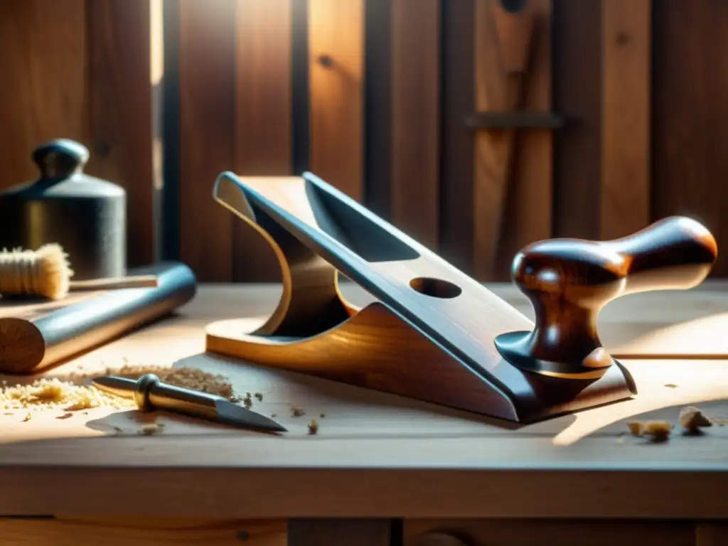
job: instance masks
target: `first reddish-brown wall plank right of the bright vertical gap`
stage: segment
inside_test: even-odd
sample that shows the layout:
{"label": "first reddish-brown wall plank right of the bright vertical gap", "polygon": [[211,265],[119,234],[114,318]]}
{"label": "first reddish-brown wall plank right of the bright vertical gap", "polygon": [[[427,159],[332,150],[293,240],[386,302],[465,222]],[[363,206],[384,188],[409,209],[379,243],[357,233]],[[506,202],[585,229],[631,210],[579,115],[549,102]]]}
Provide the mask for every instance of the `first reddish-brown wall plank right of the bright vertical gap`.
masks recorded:
{"label": "first reddish-brown wall plank right of the bright vertical gap", "polygon": [[213,182],[235,165],[236,0],[180,0],[180,253],[200,281],[232,281],[233,222]]}

